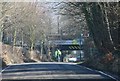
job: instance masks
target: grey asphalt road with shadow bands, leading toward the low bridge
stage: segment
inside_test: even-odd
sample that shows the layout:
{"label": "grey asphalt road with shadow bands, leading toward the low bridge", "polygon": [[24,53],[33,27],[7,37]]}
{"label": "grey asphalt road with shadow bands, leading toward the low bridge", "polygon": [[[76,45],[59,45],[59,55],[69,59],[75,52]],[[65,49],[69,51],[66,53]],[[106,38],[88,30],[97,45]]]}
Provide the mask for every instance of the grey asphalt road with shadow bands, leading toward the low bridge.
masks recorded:
{"label": "grey asphalt road with shadow bands, leading toward the low bridge", "polygon": [[116,81],[103,73],[75,63],[41,62],[9,65],[2,70],[2,81],[41,80],[101,80]]}

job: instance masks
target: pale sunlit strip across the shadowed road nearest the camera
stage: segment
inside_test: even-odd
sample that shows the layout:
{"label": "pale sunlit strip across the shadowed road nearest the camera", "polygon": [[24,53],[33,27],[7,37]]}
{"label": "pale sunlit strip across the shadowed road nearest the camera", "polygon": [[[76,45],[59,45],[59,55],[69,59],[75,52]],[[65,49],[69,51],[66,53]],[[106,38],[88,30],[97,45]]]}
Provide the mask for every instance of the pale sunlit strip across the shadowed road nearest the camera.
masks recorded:
{"label": "pale sunlit strip across the shadowed road nearest the camera", "polygon": [[[86,78],[87,77],[87,78]],[[52,74],[52,75],[22,75],[22,76],[4,76],[3,79],[103,79],[98,74]]]}

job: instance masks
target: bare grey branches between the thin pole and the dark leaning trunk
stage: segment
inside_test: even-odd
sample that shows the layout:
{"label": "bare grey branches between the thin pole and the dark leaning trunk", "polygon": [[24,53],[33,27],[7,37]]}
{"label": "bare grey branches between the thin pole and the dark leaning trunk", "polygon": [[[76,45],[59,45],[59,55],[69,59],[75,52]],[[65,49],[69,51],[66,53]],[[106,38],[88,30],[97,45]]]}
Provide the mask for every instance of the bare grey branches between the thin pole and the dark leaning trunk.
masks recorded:
{"label": "bare grey branches between the thin pole and the dark leaning trunk", "polygon": [[[77,6],[76,6],[77,5]],[[88,31],[85,15],[81,3],[58,3],[53,9],[60,16],[60,31],[62,39],[78,39],[82,33]]]}

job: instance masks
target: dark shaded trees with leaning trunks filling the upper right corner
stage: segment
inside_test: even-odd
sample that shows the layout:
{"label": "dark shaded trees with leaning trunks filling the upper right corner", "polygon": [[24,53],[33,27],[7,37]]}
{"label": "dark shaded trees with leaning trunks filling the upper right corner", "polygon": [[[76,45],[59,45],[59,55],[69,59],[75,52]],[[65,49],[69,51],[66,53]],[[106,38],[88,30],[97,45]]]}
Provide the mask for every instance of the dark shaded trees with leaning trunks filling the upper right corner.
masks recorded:
{"label": "dark shaded trees with leaning trunks filling the upper right corner", "polygon": [[119,49],[118,3],[85,3],[83,11],[97,48],[104,53]]}

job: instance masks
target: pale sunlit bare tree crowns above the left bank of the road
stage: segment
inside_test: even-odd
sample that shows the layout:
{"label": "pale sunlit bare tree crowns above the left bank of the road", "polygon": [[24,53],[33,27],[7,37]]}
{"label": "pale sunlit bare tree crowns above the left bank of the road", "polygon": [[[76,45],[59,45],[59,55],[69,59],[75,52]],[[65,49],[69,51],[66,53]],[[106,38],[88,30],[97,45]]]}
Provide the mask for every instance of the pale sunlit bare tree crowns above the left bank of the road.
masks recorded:
{"label": "pale sunlit bare tree crowns above the left bank of the road", "polygon": [[[13,45],[25,44],[33,49],[36,42],[45,41],[49,28],[45,6],[37,2],[9,3],[2,6],[2,41]],[[10,10],[9,10],[10,9]],[[44,13],[44,14],[43,14]]]}

